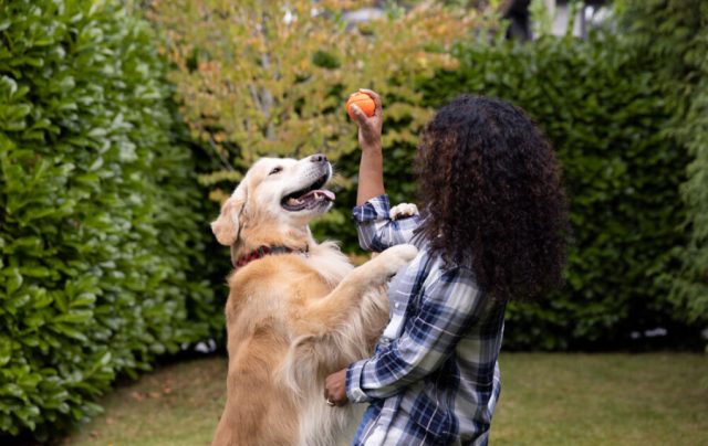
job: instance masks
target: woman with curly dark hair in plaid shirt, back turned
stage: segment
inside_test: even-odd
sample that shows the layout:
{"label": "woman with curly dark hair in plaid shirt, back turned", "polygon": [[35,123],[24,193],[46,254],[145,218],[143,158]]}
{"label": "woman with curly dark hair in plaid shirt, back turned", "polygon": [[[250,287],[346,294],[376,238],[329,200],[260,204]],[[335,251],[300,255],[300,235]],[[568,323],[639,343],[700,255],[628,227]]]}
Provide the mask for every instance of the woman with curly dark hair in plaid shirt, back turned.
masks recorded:
{"label": "woman with curly dark hair in plaid shirt, back turned", "polygon": [[561,280],[566,205],[553,151],[519,108],[462,95],[420,137],[423,213],[392,221],[382,106],[354,109],[362,147],[354,219],[365,249],[414,243],[392,280],[374,355],[327,376],[327,403],[368,402],[354,445],[485,445],[500,392],[497,359],[511,298]]}

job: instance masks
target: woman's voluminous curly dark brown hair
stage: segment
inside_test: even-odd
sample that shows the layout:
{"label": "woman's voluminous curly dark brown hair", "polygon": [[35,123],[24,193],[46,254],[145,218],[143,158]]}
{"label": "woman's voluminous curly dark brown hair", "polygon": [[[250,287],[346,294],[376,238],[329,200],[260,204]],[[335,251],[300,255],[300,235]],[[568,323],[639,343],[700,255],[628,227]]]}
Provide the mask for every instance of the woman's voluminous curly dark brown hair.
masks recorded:
{"label": "woman's voluminous curly dark brown hair", "polygon": [[569,232],[560,167],[523,110],[461,95],[420,136],[418,235],[447,264],[467,265],[499,299],[539,296],[562,282]]}

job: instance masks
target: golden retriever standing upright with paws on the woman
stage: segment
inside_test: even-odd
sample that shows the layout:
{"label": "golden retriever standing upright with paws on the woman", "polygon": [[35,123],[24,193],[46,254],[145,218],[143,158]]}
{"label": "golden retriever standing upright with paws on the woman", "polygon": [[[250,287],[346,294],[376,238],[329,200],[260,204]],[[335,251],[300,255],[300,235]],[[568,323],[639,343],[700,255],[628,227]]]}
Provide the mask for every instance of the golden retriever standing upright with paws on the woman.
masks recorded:
{"label": "golden retriever standing upright with paws on the woman", "polygon": [[371,355],[388,319],[385,284],[417,254],[384,251],[353,267],[309,222],[334,200],[323,155],[256,162],[211,223],[231,246],[227,400],[217,446],[335,445],[361,420],[324,399],[324,379]]}

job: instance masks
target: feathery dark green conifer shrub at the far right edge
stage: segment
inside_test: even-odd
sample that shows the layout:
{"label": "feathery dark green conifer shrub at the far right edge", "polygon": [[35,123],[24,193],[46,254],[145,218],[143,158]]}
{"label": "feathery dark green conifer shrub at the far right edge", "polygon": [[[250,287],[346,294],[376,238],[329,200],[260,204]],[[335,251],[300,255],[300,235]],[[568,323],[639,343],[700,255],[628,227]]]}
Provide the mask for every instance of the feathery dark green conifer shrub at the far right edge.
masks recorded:
{"label": "feathery dark green conifer shrub at the far right edge", "polygon": [[675,113],[660,130],[690,156],[681,198],[688,243],[674,251],[681,264],[670,300],[689,322],[708,323],[708,2],[620,0],[620,25],[653,64]]}

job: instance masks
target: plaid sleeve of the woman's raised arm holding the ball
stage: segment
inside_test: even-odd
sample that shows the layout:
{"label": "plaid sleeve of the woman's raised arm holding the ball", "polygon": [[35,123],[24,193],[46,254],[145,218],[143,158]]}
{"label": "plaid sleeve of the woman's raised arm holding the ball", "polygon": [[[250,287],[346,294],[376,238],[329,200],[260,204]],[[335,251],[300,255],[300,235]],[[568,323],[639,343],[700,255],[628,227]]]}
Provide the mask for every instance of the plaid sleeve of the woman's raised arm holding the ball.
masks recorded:
{"label": "plaid sleeve of the woman's raised arm holding the ball", "polygon": [[391,220],[388,195],[378,195],[361,206],[354,208],[352,216],[356,222],[358,244],[366,251],[382,252],[387,247],[408,243],[420,219],[413,215],[403,220]]}

